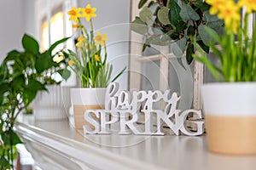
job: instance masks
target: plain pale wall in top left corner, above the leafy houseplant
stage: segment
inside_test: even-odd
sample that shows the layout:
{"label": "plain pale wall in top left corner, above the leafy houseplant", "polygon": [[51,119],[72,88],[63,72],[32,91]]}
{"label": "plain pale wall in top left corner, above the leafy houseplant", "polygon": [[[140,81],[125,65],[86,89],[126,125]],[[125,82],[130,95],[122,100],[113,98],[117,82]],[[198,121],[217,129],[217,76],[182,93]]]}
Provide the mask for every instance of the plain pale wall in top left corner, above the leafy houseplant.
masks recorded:
{"label": "plain pale wall in top left corner, above the leafy houseplant", "polygon": [[21,38],[25,32],[35,37],[35,1],[0,1],[0,61],[10,50],[22,49]]}

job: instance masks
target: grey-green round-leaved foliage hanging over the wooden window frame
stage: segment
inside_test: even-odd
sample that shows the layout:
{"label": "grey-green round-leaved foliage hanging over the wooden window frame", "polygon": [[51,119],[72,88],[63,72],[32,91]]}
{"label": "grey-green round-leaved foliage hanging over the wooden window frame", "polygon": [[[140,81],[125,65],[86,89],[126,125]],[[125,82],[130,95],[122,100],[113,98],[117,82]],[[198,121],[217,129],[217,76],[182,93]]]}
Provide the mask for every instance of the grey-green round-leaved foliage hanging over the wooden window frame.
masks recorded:
{"label": "grey-green round-leaved foliage hanging over the wooden window frame", "polygon": [[[223,21],[209,13],[209,5],[202,0],[141,0],[138,8],[142,8],[139,16],[132,21],[131,30],[142,34],[143,51],[150,45],[166,46],[173,43],[172,52],[180,64],[186,52],[187,63],[193,60],[195,42],[209,53],[209,35],[204,26],[218,31]],[[195,37],[195,42],[193,38]]]}

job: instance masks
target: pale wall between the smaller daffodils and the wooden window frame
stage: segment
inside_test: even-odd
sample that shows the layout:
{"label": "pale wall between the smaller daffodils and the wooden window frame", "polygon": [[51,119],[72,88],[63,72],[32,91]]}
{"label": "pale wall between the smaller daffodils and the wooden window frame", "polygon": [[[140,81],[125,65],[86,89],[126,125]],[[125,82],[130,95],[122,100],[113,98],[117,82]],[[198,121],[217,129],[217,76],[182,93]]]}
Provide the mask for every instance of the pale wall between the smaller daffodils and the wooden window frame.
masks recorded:
{"label": "pale wall between the smaller daffodils and the wooden window frame", "polygon": [[85,8],[90,3],[96,8],[97,17],[93,18],[95,31],[108,35],[108,61],[113,64],[113,75],[125,66],[127,69],[116,82],[120,89],[128,89],[128,60],[129,60],[129,25],[130,0],[79,0],[78,6]]}

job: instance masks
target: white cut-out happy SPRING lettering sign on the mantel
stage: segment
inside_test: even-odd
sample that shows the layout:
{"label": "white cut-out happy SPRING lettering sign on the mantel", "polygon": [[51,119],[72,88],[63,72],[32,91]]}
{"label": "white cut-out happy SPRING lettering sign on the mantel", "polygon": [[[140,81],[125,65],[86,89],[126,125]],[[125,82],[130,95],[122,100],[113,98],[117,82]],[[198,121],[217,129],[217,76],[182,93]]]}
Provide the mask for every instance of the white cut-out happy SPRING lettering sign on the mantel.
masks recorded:
{"label": "white cut-out happy SPRING lettering sign on the mantel", "polygon": [[[186,127],[189,113],[196,114],[202,118],[201,111],[177,110],[177,102],[180,97],[176,93],[166,90],[156,91],[119,91],[119,84],[112,82],[108,85],[105,97],[104,110],[87,110],[84,112],[84,119],[90,125],[84,125],[84,133],[108,134],[117,131],[113,125],[118,127],[119,134],[143,134],[143,135],[164,135],[163,126],[170,128],[170,133],[179,135],[195,136],[203,133],[202,121],[190,121],[195,123],[196,132],[189,131]],[[163,110],[154,109],[155,105],[163,104]],[[143,128],[138,126],[138,121],[144,115]],[[156,123],[153,123],[153,116],[156,116]]]}

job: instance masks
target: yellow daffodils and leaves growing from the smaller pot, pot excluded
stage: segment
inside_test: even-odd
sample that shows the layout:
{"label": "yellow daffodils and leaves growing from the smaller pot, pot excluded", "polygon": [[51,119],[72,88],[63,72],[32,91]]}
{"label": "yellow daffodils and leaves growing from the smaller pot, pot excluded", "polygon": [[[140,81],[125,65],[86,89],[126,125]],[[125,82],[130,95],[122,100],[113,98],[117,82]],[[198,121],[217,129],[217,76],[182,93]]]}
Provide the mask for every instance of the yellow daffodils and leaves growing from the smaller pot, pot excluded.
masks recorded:
{"label": "yellow daffodils and leaves growing from the smaller pot, pot excluded", "polygon": [[[78,53],[69,50],[66,56],[69,57],[69,65],[79,77],[82,88],[106,88],[109,82],[115,81],[125,71],[124,68],[111,79],[113,65],[107,63],[108,37],[100,31],[95,35],[92,22],[92,18],[96,17],[95,12],[96,8],[91,8],[90,4],[85,8],[73,7],[67,12],[79,38],[76,43]],[[89,22],[90,29],[83,25],[82,20]]]}

